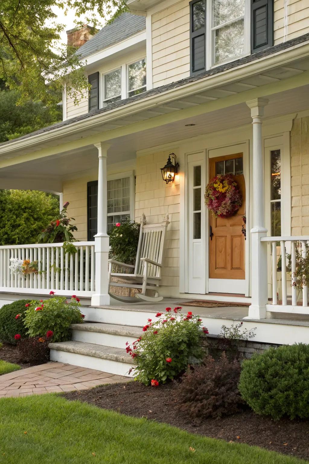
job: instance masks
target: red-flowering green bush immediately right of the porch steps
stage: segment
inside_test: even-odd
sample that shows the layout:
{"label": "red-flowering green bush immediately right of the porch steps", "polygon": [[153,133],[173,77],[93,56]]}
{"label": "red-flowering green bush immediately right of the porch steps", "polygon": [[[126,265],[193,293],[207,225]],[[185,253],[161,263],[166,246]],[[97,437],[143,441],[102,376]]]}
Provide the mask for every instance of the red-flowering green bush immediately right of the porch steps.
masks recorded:
{"label": "red-flowering green bush immediately right of the porch steps", "polygon": [[182,374],[189,362],[202,359],[202,319],[191,311],[187,315],[178,314],[181,307],[166,308],[165,313],[157,313],[157,321],[148,319],[144,334],[133,342],[132,348],[126,343],[126,352],[136,362],[136,380],[145,385],[158,386]]}

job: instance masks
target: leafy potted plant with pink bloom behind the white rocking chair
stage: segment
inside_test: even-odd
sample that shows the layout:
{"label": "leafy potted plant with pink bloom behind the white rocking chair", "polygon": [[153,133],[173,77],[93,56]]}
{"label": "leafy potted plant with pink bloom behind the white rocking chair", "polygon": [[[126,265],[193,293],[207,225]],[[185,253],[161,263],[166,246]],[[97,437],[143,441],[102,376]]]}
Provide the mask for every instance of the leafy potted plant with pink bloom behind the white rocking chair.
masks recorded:
{"label": "leafy potted plant with pink bloom behind the white rocking chair", "polygon": [[120,263],[135,264],[140,224],[117,223],[109,232],[109,258]]}

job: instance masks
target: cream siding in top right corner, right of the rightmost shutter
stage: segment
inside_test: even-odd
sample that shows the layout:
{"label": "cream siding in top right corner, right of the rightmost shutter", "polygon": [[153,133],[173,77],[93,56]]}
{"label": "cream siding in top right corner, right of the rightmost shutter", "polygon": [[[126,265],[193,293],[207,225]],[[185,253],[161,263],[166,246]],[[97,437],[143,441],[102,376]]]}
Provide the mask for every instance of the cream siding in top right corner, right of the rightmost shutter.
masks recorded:
{"label": "cream siding in top right corner, right of the rightmost shutter", "polygon": [[274,2],[274,43],[294,39],[309,32],[309,1],[284,0]]}

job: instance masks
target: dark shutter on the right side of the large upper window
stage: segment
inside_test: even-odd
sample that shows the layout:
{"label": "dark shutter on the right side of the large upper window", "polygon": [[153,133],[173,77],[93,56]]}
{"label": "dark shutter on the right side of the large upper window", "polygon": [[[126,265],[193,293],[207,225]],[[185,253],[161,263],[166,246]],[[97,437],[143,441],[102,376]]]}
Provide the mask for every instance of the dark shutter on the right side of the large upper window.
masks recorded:
{"label": "dark shutter on the right side of the large upper window", "polygon": [[273,0],[251,0],[251,53],[273,45]]}

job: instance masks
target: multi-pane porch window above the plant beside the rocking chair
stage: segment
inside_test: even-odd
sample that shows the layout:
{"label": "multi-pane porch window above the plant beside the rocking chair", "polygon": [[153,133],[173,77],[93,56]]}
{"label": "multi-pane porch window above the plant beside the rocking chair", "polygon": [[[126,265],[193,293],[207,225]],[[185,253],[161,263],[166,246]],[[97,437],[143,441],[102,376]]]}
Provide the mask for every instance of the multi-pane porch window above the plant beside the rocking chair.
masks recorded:
{"label": "multi-pane porch window above the plant beside the rocking chair", "polygon": [[130,177],[107,181],[107,232],[130,219]]}

